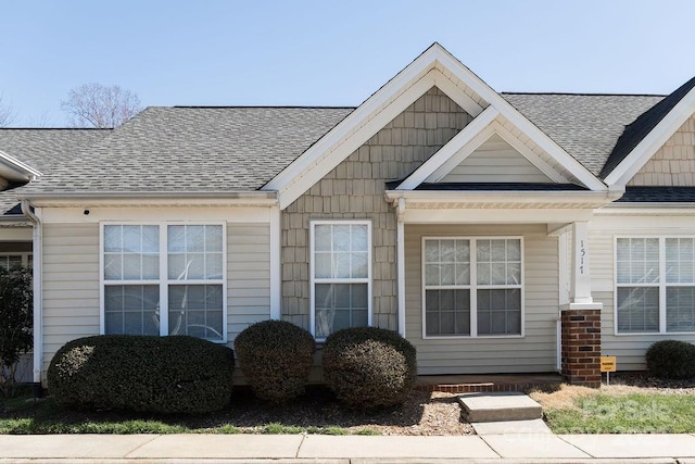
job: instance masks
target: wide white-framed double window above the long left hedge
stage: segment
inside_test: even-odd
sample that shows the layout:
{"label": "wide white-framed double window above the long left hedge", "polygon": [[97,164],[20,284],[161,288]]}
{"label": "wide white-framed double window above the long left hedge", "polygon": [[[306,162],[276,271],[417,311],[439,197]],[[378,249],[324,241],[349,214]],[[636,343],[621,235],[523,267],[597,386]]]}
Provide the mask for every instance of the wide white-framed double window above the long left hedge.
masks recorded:
{"label": "wide white-framed double window above the long left hedge", "polygon": [[226,341],[222,224],[103,225],[103,333]]}

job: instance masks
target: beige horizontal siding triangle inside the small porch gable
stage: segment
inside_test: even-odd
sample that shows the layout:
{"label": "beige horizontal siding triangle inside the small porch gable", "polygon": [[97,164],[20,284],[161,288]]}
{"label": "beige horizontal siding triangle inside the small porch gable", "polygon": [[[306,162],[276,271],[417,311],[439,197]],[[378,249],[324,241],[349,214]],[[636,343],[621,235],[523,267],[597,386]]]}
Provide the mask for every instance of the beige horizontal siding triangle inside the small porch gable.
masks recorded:
{"label": "beige horizontal siding triangle inside the small porch gable", "polygon": [[552,180],[502,137],[493,135],[440,181],[551,183]]}

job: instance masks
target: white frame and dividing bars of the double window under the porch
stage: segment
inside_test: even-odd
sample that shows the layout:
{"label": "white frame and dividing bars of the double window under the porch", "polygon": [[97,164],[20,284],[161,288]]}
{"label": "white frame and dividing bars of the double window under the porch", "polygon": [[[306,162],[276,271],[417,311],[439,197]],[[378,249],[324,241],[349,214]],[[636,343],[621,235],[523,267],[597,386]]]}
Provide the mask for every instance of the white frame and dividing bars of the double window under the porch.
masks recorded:
{"label": "white frame and dividing bars of the double window under the porch", "polygon": [[[425,280],[425,242],[427,240],[468,240],[470,243],[470,284],[467,286],[444,286],[438,289],[469,289],[470,290],[470,335],[427,335],[426,326],[426,280]],[[477,285],[473,284],[478,278],[477,268],[477,251],[478,240],[519,240],[521,252],[521,278],[519,285]],[[526,285],[525,285],[525,267],[526,253],[523,249],[523,236],[428,236],[422,237],[420,247],[420,290],[421,290],[421,318],[422,318],[422,339],[424,340],[460,340],[460,339],[505,339],[505,338],[525,338],[526,337]],[[478,289],[505,289],[520,288],[521,290],[521,333],[514,335],[478,335]]]}

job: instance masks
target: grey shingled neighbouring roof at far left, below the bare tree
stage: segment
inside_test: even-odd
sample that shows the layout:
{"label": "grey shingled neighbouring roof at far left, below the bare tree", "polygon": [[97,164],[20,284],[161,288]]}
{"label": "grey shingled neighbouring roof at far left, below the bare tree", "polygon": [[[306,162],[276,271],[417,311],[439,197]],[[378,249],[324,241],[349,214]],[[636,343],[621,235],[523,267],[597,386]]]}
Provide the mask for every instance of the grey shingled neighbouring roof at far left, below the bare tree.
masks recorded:
{"label": "grey shingled neighbouring roof at far left, below the bare tree", "polygon": [[[111,129],[1,128],[0,150],[41,173],[52,172],[79,152],[111,134]],[[0,214],[21,214],[17,193],[25,186],[11,185],[0,192]]]}

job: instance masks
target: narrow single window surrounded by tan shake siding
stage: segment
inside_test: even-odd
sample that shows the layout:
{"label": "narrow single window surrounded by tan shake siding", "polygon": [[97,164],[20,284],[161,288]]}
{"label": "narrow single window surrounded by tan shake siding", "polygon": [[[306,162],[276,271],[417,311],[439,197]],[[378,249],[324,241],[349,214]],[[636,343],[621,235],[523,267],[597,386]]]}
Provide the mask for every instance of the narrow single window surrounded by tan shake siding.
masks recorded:
{"label": "narrow single window surrounded by tan shake siding", "polygon": [[371,323],[371,223],[314,221],[311,224],[312,331],[324,339],[336,330]]}

